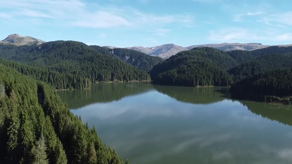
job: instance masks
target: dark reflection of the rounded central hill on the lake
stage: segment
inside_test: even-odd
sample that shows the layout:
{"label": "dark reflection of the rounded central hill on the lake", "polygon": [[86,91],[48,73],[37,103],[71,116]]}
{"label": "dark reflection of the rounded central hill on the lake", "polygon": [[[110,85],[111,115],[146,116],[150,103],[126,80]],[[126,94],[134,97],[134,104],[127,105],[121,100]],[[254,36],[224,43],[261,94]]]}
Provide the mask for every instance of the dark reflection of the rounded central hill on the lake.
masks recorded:
{"label": "dark reflection of the rounded central hill on the lake", "polygon": [[225,90],[222,87],[185,87],[185,86],[165,86],[154,85],[155,90],[168,95],[177,101],[192,104],[212,104],[226,99],[225,92],[217,90]]}

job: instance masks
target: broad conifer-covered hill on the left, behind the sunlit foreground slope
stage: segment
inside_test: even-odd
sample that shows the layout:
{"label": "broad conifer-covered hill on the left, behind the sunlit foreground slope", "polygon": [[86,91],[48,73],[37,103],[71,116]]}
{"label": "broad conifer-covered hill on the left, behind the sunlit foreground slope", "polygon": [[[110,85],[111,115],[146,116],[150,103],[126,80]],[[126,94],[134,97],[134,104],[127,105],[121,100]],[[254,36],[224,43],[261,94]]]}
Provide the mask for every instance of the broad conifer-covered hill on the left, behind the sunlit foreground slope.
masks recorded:
{"label": "broad conifer-covered hill on the left, behind the sunlit foreground slope", "polygon": [[51,41],[41,45],[2,45],[0,57],[34,67],[48,68],[61,74],[74,74],[92,82],[148,81],[146,72],[120,59],[102,55],[77,41]]}

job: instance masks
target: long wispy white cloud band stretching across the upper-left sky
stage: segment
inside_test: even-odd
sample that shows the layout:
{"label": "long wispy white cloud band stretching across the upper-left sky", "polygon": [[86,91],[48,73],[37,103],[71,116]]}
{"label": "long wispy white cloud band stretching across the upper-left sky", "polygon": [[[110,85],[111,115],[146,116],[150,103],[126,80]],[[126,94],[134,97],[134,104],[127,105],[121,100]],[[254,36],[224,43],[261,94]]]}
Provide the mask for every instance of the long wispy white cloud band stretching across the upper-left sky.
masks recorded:
{"label": "long wispy white cloud band stretching across the upper-left sky", "polygon": [[[165,25],[171,23],[192,23],[188,14],[151,14],[131,7],[102,6],[80,0],[1,0],[0,9],[8,9],[0,17],[16,19],[50,18],[63,25],[111,28]],[[5,15],[4,15],[5,14]]]}

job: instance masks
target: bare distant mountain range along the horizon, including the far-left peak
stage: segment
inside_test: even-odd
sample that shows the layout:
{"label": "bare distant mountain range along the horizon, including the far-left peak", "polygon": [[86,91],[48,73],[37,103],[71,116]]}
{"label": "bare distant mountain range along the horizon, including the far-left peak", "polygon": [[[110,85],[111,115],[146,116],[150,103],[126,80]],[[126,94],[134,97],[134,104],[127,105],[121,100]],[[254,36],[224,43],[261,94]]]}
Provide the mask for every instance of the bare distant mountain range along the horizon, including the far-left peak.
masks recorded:
{"label": "bare distant mountain range along the horizon, including the far-left peak", "polygon": [[[18,34],[9,35],[0,43],[9,43],[15,45],[31,45],[31,44],[42,44],[46,41],[42,41],[32,37],[23,37]],[[126,47],[127,49],[136,50],[139,52],[146,53],[151,56],[158,56],[160,58],[169,58],[172,55],[175,55],[181,51],[191,50],[196,47],[212,47],[222,51],[232,51],[232,50],[256,50],[261,48],[266,48],[272,45],[263,45],[261,43],[220,43],[220,44],[199,44],[199,45],[191,45],[188,47],[179,46],[176,44],[163,44],[154,47],[143,47],[143,46],[134,46],[134,47]],[[289,45],[278,45],[278,46],[292,46]],[[115,46],[104,46],[108,48],[118,48]]]}

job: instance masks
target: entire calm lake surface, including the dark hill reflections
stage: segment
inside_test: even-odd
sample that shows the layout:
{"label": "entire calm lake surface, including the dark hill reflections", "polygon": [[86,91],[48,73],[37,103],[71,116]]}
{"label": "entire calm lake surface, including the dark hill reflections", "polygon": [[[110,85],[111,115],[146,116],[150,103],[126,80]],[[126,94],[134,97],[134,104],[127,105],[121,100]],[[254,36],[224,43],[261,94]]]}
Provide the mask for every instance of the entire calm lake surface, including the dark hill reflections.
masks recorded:
{"label": "entire calm lake surface, including the dark hill reflections", "polygon": [[100,83],[59,91],[132,164],[291,164],[292,107],[232,100],[226,88]]}

